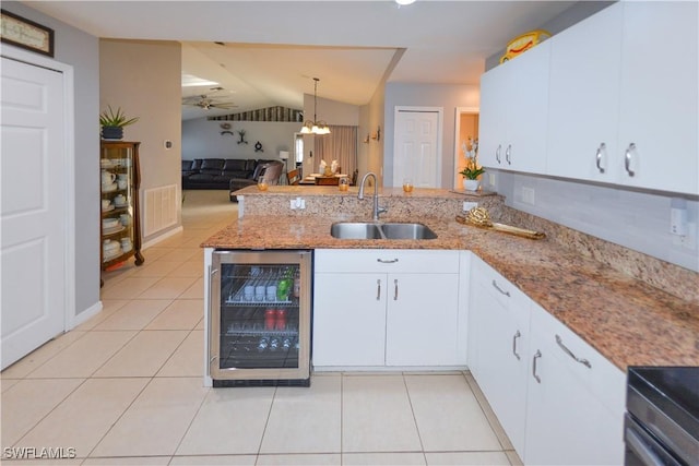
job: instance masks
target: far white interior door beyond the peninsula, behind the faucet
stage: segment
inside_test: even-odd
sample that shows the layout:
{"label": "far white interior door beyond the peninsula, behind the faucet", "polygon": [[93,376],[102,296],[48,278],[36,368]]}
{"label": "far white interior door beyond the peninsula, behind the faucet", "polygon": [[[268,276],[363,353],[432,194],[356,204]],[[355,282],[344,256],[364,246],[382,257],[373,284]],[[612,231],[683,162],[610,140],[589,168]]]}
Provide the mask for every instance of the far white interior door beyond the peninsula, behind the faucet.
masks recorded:
{"label": "far white interior door beyond the peninsula, behind the faucet", "polygon": [[417,188],[441,188],[441,109],[395,111],[393,186],[410,178]]}

